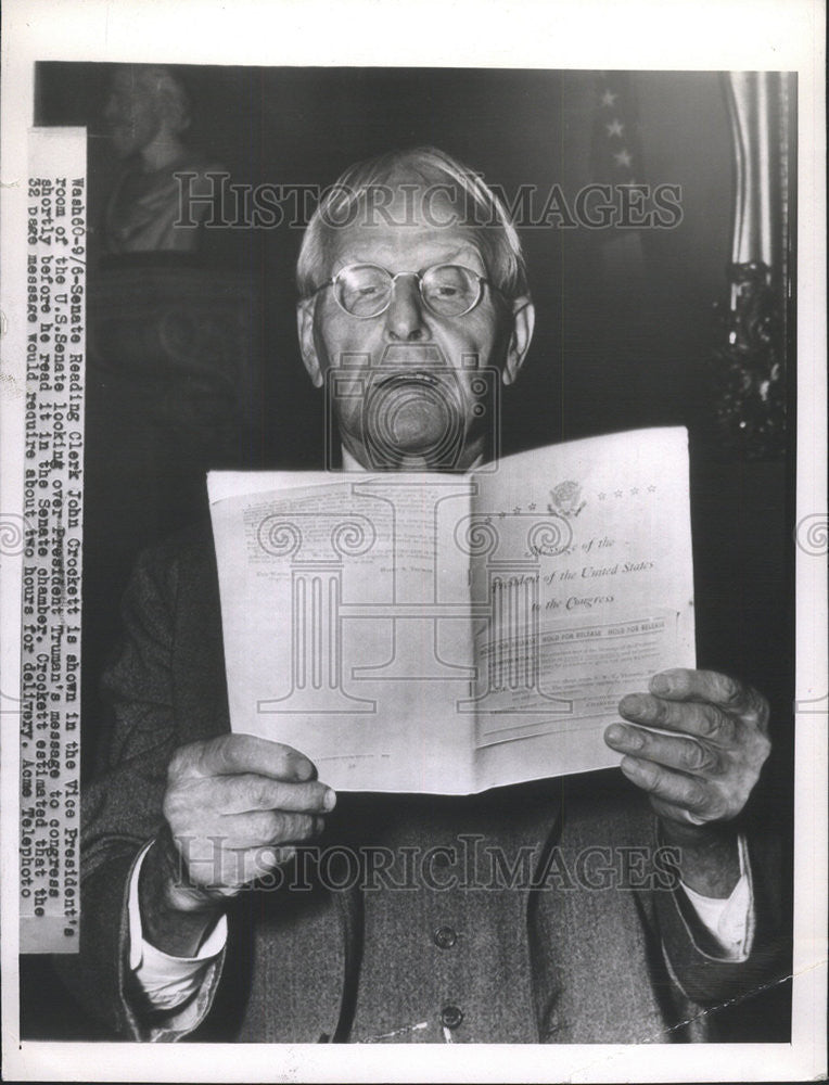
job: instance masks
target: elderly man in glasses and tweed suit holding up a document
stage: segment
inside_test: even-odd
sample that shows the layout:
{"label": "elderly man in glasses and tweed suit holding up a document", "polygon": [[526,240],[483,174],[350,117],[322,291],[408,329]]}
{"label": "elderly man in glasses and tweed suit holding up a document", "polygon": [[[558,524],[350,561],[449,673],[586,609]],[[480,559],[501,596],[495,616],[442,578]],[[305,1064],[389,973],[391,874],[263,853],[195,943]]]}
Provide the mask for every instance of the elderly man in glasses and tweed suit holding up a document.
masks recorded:
{"label": "elderly man in glasses and tweed suit holding up a document", "polygon": [[[516,232],[480,177],[430,149],[352,168],[306,231],[298,283],[315,385],[344,358],[356,382],[393,350],[410,395],[392,467],[433,465],[443,423],[424,358],[436,352],[469,406],[455,465],[488,455],[468,361],[512,384],[533,305]],[[336,406],[344,467],[378,467],[372,413],[356,395]],[[765,853],[736,828],[769,751],[754,690],[655,675],[607,731],[624,775],[468,799],[335,795],[301,750],[229,733],[209,539],[144,557],[125,625],[104,679],[110,769],[85,804],[72,970],[122,1034],[665,1043],[707,1038],[704,1007],[764,982]],[[357,883],[305,861],[322,854],[311,843],[358,856]],[[423,850],[429,863],[406,868]],[[607,867],[632,854],[626,879],[602,879],[597,855]],[[471,876],[458,877],[459,856]]]}

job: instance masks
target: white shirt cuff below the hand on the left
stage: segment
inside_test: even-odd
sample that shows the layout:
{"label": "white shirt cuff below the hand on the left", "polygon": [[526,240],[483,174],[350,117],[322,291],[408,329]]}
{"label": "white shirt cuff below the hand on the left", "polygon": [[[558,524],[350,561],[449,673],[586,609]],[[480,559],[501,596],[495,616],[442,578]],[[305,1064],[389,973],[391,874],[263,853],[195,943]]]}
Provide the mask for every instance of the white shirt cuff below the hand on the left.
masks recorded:
{"label": "white shirt cuff below the hand on the left", "polygon": [[141,927],[138,880],[151,846],[152,841],[139,855],[129,883],[129,967],[150,1005],[158,1010],[173,1010],[201,987],[207,967],[225,948],[228,921],[226,916],[219,917],[194,957],[171,957],[146,942]]}

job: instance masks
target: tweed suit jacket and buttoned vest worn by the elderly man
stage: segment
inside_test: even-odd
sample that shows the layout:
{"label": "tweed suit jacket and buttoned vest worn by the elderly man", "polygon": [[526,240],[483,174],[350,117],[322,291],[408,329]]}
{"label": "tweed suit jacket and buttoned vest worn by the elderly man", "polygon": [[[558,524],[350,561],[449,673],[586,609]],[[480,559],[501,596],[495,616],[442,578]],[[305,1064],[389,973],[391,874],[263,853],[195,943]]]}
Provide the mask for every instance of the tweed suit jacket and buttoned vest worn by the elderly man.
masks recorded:
{"label": "tweed suit jacket and buttoned vest worn by the elderly man", "polygon": [[[143,556],[124,627],[103,681],[113,714],[103,770],[84,800],[80,955],[63,970],[114,1035],[439,1041],[448,1000],[462,1010],[456,1041],[707,1039],[715,1038],[707,1007],[785,967],[769,850],[751,852],[752,952],[722,960],[681,891],[666,889],[654,867],[656,820],[647,801],[612,770],[469,799],[341,795],[321,842],[332,851],[405,845],[413,854],[459,841],[485,851],[494,842],[498,877],[490,863],[476,873],[483,886],[451,893],[445,878],[425,884],[422,871],[396,894],[382,879],[332,886],[332,878],[316,877],[302,891],[245,892],[230,906],[228,945],[187,1026],[148,1010],[128,969],[130,875],[163,825],[173,751],[229,729],[209,532]],[[578,878],[586,850],[595,863]],[[602,867],[615,871],[610,880]],[[447,915],[457,944],[437,948],[434,923]]]}

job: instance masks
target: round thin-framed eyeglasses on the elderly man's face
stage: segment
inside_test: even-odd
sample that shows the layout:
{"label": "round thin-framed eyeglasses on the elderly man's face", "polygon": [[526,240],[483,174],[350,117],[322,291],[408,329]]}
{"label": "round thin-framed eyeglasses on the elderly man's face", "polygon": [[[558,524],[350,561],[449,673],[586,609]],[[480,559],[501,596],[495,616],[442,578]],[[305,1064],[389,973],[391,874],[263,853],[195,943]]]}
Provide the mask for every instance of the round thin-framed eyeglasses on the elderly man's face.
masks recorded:
{"label": "round thin-framed eyeglasses on the elderly man's face", "polygon": [[423,272],[398,271],[397,275],[377,264],[349,264],[333,279],[317,286],[311,297],[333,286],[337,305],[349,316],[379,317],[392,304],[395,281],[401,276],[414,276],[423,304],[438,317],[465,316],[481,301],[484,286],[493,286],[488,279],[460,264],[436,264]]}

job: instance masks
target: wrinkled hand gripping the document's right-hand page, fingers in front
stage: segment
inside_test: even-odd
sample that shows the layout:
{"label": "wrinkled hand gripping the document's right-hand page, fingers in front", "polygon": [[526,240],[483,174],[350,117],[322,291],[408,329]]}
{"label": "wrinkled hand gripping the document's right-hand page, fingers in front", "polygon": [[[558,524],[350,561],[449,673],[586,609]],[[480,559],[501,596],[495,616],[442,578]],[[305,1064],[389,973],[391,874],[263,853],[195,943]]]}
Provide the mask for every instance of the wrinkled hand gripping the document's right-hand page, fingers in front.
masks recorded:
{"label": "wrinkled hand gripping the document's right-hand page, fingers in front", "polygon": [[762,694],[714,671],[664,671],[649,693],[622,698],[618,712],[637,726],[613,724],[604,741],[625,754],[622,771],[662,818],[700,826],[737,817],[771,749]]}

